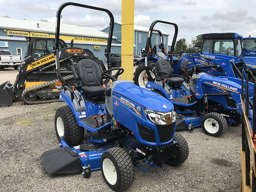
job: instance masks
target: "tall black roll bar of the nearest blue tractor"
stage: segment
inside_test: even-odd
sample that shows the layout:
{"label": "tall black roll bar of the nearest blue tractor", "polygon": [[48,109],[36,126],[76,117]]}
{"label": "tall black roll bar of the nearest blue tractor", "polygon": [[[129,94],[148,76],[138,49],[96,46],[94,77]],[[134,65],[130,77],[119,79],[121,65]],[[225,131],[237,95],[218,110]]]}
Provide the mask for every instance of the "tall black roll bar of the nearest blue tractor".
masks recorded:
{"label": "tall black roll bar of the nearest blue tractor", "polygon": [[109,66],[109,63],[110,63],[110,49],[111,49],[112,36],[113,36],[113,30],[114,30],[114,16],[107,9],[103,9],[103,8],[100,8],[100,7],[93,7],[93,6],[79,4],[79,3],[73,3],[73,2],[67,2],[67,3],[63,3],[63,4],[60,5],[60,7],[58,8],[57,13],[56,13],[55,47],[54,47],[55,55],[56,55],[55,62],[56,62],[57,76],[60,79],[60,81],[62,82],[62,84],[67,85],[67,86],[68,86],[68,84],[63,80],[63,78],[60,74],[59,39],[60,39],[60,16],[61,16],[61,12],[65,7],[67,7],[69,5],[73,5],[73,6],[76,6],[76,7],[84,7],[84,8],[88,8],[88,9],[94,9],[94,10],[103,11],[103,12],[108,13],[108,16],[110,18],[110,23],[109,23],[109,33],[108,33],[108,44],[107,44],[107,49],[105,49],[104,55],[107,58],[109,68],[111,67],[111,66]]}

